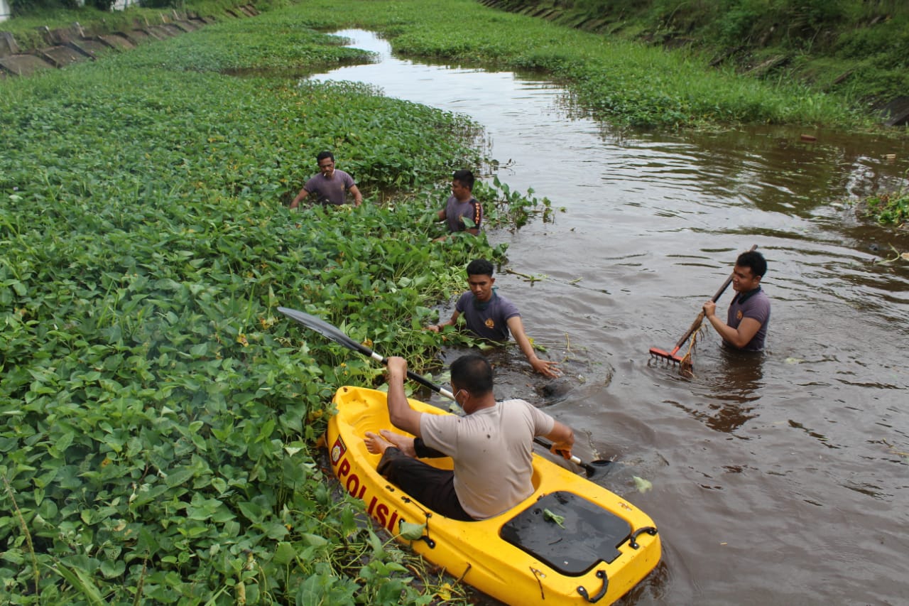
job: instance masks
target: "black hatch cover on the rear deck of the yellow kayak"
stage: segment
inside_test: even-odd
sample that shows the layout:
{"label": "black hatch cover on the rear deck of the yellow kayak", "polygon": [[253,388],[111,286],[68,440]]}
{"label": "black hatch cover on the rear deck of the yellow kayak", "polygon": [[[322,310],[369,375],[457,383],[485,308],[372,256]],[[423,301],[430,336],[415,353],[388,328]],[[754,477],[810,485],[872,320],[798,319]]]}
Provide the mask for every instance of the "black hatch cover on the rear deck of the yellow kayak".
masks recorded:
{"label": "black hatch cover on the rear deck of the yellow kayak", "polygon": [[599,505],[563,490],[540,497],[501,530],[502,539],[567,576],[582,576],[621,555],[631,525]]}

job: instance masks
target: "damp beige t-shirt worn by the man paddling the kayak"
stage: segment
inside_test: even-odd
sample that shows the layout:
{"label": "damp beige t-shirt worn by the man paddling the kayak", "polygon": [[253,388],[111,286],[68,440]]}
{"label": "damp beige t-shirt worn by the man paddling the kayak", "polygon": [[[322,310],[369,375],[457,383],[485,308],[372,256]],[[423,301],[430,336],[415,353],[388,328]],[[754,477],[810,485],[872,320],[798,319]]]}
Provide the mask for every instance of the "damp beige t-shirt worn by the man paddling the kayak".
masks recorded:
{"label": "damp beige t-shirt worn by the man paddling the kayak", "polygon": [[454,460],[454,492],[475,520],[514,507],[534,491],[534,436],[549,434],[555,419],[523,399],[496,402],[464,417],[422,415],[426,446]]}

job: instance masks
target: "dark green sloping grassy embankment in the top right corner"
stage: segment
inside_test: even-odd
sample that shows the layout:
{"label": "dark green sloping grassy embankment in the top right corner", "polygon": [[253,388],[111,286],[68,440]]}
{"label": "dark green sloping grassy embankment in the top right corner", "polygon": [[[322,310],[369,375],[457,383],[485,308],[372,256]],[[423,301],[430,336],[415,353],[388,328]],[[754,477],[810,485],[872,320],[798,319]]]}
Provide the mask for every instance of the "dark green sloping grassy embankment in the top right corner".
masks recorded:
{"label": "dark green sloping grassy embankment in the top right corner", "polygon": [[902,0],[501,0],[603,35],[694,49],[747,77],[790,79],[870,109],[909,95]]}

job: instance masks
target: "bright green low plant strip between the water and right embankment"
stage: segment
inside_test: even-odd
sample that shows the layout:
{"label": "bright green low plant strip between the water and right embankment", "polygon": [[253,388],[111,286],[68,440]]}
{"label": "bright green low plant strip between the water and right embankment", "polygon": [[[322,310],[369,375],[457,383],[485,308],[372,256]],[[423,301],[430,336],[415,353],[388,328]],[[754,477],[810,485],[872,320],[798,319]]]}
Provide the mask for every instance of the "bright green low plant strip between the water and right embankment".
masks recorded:
{"label": "bright green low plant strip between the water and right embankment", "polygon": [[[196,8],[192,3],[187,7]],[[708,58],[698,54],[667,53],[620,36],[489,9],[474,0],[316,0],[296,4],[295,12],[319,28],[360,25],[379,30],[396,51],[409,55],[543,71],[571,86],[581,103],[616,124],[874,126],[874,118],[848,97],[831,96],[789,78],[741,77],[732,66],[708,66]]]}

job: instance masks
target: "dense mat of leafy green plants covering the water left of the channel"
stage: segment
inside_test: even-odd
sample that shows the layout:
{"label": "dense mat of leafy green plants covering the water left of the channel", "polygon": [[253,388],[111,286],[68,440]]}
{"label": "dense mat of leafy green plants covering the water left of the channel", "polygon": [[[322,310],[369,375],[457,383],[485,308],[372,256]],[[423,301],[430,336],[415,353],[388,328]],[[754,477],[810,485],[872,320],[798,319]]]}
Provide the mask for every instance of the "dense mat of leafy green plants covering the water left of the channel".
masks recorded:
{"label": "dense mat of leafy green plants covering the water left of the channel", "polygon": [[[430,306],[464,259],[502,254],[431,242],[475,128],[221,73],[355,60],[306,23],[275,11],[0,86],[0,604],[459,599],[316,460],[335,389],[381,369],[275,308],[425,366]],[[325,147],[366,203],[288,210]],[[493,220],[522,216],[481,192]]]}

